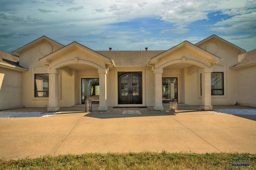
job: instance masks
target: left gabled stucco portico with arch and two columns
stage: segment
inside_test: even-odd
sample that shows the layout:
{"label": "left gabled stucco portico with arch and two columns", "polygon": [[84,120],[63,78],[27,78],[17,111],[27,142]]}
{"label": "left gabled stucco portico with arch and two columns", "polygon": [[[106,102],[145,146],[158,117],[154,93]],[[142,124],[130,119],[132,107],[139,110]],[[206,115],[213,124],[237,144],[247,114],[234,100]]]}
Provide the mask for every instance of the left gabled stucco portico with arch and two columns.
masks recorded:
{"label": "left gabled stucco portico with arch and two columns", "polygon": [[[39,60],[44,65],[49,65],[49,107],[48,111],[58,111],[59,99],[58,99],[58,78],[60,71],[62,70],[71,77],[69,80],[73,83],[70,91],[66,89],[63,93],[69,94],[74,93],[76,96],[73,100],[79,100],[78,82],[79,75],[78,71],[87,71],[86,75],[92,73],[92,76],[98,78],[98,90],[99,90],[99,111],[106,111],[107,107],[107,96],[106,96],[106,76],[108,73],[108,65],[111,66],[111,60],[108,57],[102,56],[91,49],[73,42],[66,47],[55,51]],[[63,86],[63,84],[62,84]],[[72,91],[74,89],[74,91]],[[67,101],[68,99],[66,99]]]}

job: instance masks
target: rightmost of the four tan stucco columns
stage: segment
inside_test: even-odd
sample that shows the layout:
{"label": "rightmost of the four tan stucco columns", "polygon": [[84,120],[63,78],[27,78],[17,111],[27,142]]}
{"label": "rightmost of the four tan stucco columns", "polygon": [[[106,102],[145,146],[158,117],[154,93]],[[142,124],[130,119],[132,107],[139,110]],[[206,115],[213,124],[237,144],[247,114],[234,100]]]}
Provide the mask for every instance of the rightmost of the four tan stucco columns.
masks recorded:
{"label": "rightmost of the four tan stucco columns", "polygon": [[211,73],[212,73],[212,68],[202,69],[202,105],[201,105],[201,109],[203,109],[203,110],[212,110]]}

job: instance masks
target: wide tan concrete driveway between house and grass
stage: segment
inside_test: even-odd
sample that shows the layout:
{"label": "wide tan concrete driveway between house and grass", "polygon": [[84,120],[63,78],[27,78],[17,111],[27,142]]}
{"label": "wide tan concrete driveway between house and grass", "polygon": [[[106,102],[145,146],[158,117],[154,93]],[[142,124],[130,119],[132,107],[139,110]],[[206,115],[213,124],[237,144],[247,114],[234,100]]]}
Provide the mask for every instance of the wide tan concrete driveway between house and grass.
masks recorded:
{"label": "wide tan concrete driveway between house and grass", "polygon": [[73,110],[51,117],[0,119],[0,159],[145,150],[256,154],[256,121],[178,107],[176,114],[147,108],[134,109],[142,114],[122,114],[124,109],[112,108],[104,113]]}

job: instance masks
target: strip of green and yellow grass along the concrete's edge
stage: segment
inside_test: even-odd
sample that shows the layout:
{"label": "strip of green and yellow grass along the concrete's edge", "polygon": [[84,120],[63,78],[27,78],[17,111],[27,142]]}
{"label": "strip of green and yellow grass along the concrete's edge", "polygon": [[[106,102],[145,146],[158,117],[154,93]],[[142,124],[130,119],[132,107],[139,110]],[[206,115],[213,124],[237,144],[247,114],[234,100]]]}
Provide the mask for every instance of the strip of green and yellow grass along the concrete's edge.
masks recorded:
{"label": "strip of green and yellow grass along the concrete's edge", "polygon": [[[234,160],[243,158],[244,160]],[[236,166],[232,166],[235,164]],[[239,166],[240,165],[240,166]],[[246,165],[246,166],[245,166]],[[36,159],[0,160],[0,169],[88,169],[88,170],[228,170],[256,169],[256,154],[194,154],[163,151],[140,153],[87,153],[42,156]]]}

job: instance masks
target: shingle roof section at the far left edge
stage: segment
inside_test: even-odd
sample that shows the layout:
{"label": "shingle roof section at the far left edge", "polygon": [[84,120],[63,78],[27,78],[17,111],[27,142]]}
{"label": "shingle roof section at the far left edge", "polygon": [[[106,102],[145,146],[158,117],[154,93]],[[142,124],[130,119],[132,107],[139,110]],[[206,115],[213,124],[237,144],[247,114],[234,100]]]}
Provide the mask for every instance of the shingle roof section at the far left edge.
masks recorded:
{"label": "shingle roof section at the far left edge", "polygon": [[24,68],[19,65],[19,57],[16,57],[4,51],[0,51],[0,63],[3,63],[4,65],[7,64],[15,67]]}

